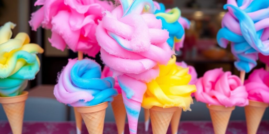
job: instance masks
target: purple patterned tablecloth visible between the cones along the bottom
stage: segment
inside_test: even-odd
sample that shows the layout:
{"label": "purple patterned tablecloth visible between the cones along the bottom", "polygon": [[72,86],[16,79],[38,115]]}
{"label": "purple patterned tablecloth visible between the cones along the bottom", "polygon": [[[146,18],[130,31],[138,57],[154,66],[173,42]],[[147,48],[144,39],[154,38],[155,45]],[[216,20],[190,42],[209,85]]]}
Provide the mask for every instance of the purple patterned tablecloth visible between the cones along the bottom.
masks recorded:
{"label": "purple patterned tablecloth visible between the cones along the bottom", "polygon": [[[180,134],[214,134],[211,121],[181,121],[179,125]],[[246,134],[245,121],[230,121],[226,134]],[[0,133],[12,134],[7,121],[0,121]],[[75,122],[37,122],[24,121],[23,134],[76,134]],[[125,134],[128,134],[128,124],[125,125]],[[144,122],[138,124],[138,134],[151,134],[151,126],[148,132],[144,131]],[[168,134],[171,133],[170,127]],[[262,121],[257,134],[269,133],[269,121]],[[87,134],[86,126],[83,124],[82,134]],[[104,134],[117,134],[114,122],[105,122]]]}

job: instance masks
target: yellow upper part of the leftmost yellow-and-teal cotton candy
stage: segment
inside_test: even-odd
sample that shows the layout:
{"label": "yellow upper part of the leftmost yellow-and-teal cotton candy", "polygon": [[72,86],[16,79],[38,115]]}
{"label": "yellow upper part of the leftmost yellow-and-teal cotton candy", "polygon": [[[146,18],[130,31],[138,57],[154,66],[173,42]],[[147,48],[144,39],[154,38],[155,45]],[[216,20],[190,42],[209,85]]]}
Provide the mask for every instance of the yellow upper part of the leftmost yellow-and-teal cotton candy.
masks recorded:
{"label": "yellow upper part of the leftmost yellow-and-teal cotton candy", "polygon": [[[10,39],[11,29],[15,26],[8,22],[0,28],[0,78],[7,78],[34,61],[40,65],[36,54],[43,53],[44,50],[38,44],[30,43],[27,33],[18,33],[14,39]],[[30,59],[31,57],[36,59]],[[31,63],[27,63],[26,59],[31,60]]]}

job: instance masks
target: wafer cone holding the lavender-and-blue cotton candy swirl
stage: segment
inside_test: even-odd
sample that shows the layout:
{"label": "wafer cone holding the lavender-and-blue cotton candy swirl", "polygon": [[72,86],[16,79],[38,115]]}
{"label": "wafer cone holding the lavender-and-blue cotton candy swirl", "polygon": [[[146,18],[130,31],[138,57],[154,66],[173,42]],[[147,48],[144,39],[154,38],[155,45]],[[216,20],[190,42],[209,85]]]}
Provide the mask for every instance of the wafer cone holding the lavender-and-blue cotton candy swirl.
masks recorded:
{"label": "wafer cone holding the lavender-and-blue cotton candy swirl", "polygon": [[105,109],[108,107],[108,102],[103,102],[94,106],[76,107],[76,110],[81,114],[88,133],[102,134],[105,121]]}

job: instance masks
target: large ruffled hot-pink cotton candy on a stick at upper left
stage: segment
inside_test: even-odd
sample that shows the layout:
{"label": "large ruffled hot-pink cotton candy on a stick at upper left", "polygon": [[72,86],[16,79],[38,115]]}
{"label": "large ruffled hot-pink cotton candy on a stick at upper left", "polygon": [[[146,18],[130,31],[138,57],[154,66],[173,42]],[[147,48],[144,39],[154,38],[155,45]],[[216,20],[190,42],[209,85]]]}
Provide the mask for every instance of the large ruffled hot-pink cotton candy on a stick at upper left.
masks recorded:
{"label": "large ruffled hot-pink cotton candy on a stick at upper left", "polygon": [[53,47],[64,50],[66,45],[72,51],[95,57],[100,46],[95,38],[97,20],[102,12],[113,9],[113,3],[100,0],[38,0],[35,6],[42,6],[31,14],[30,26],[37,30],[42,26],[51,29],[49,42]]}

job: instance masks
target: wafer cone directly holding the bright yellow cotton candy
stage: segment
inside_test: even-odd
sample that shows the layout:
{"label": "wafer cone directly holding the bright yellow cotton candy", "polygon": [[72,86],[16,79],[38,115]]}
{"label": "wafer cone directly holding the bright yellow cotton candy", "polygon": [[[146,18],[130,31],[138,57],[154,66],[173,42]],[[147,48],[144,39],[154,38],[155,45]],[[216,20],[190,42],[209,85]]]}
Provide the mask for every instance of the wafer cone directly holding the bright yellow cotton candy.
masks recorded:
{"label": "wafer cone directly holding the bright yellow cotton candy", "polygon": [[153,134],[167,133],[171,118],[177,109],[178,107],[162,108],[153,106],[149,110]]}

